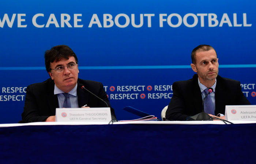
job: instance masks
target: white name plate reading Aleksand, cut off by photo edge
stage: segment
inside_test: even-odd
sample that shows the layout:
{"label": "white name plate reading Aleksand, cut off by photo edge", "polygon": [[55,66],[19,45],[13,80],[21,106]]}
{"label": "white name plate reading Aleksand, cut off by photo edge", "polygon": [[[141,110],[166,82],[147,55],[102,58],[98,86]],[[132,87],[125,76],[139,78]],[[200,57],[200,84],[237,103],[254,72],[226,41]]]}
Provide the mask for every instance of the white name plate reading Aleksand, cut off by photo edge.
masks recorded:
{"label": "white name plate reading Aleksand, cut off by photo edge", "polygon": [[226,105],[225,120],[256,121],[256,105]]}

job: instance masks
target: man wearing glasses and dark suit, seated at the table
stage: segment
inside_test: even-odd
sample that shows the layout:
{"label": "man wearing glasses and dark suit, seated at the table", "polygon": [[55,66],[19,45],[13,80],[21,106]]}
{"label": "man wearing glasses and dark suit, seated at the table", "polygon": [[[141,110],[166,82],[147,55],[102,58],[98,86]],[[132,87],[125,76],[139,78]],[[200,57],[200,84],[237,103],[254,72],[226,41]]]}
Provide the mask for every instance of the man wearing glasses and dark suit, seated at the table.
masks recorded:
{"label": "man wearing glasses and dark suit, seated at the table", "polygon": [[82,86],[103,99],[110,107],[112,120],[116,119],[102,83],[78,78],[78,58],[71,48],[60,45],[46,51],[45,67],[50,78],[31,84],[26,89],[23,121],[55,121],[56,108],[68,108],[67,104],[69,108],[85,105],[87,108],[106,107],[104,102],[83,90]]}

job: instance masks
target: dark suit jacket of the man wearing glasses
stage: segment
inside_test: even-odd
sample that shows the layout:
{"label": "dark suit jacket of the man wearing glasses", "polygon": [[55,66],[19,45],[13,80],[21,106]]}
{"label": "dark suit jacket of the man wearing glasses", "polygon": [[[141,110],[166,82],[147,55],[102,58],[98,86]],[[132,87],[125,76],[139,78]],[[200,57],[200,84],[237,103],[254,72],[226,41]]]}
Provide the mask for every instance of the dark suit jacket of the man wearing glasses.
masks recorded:
{"label": "dark suit jacket of the man wearing glasses", "polygon": [[[94,95],[81,89],[83,84],[86,89],[103,99],[111,110],[112,119],[116,119],[114,109],[111,108],[107,94],[102,83],[78,79],[77,95],[79,108],[87,104],[91,108],[106,107],[106,104]],[[57,94],[54,95],[54,81],[47,79],[42,83],[31,84],[26,89],[26,98],[22,120],[26,122],[44,121],[49,116],[55,116],[56,108],[59,108]]]}

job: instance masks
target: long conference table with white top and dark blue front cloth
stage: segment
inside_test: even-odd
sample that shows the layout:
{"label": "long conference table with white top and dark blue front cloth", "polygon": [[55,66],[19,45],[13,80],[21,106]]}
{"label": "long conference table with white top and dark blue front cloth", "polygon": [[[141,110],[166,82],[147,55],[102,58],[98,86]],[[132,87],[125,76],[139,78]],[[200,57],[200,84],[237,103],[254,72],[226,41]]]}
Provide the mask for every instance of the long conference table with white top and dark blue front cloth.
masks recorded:
{"label": "long conference table with white top and dark blue front cloth", "polygon": [[256,121],[0,124],[0,163],[256,163]]}

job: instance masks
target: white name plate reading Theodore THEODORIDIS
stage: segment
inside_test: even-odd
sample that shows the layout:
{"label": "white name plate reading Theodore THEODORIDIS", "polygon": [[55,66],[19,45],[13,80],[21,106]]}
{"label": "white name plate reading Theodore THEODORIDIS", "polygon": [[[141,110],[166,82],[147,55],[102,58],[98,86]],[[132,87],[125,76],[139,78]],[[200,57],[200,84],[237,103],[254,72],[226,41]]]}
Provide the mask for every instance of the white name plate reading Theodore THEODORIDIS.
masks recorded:
{"label": "white name plate reading Theodore THEODORIDIS", "polygon": [[110,122],[110,108],[56,108],[56,122]]}

